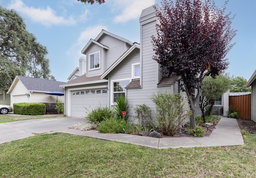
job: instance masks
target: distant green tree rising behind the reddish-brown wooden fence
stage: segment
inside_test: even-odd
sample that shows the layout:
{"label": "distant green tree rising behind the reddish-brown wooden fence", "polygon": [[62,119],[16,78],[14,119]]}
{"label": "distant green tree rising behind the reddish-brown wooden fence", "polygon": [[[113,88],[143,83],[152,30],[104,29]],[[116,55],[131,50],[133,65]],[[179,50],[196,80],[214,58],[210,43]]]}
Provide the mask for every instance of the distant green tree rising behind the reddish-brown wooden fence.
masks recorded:
{"label": "distant green tree rising behind the reddish-brown wooden fence", "polygon": [[247,80],[244,77],[234,77],[231,81],[231,89],[230,92],[250,92],[252,91],[251,87],[246,88],[245,85]]}

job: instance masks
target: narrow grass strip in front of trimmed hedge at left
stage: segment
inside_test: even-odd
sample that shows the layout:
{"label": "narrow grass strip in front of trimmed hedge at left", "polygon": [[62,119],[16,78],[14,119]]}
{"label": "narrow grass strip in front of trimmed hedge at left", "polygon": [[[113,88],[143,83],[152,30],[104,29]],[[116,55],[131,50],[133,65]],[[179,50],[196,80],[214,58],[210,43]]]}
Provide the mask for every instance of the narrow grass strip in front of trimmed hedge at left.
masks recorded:
{"label": "narrow grass strip in front of trimmed hedge at left", "polygon": [[8,123],[8,122],[14,122],[14,121],[24,121],[29,119],[42,119],[42,118],[54,118],[54,117],[60,117],[60,116],[8,116],[8,115],[0,115],[0,124],[1,123]]}

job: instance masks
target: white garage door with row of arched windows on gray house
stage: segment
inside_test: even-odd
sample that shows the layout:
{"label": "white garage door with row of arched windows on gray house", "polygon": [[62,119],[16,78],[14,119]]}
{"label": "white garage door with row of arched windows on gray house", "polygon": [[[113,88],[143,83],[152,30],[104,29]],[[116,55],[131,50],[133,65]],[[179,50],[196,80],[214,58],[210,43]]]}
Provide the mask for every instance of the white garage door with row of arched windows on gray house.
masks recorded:
{"label": "white garage door with row of arched windows on gray house", "polygon": [[85,117],[97,106],[105,107],[108,104],[108,93],[106,89],[71,91],[70,104],[71,116]]}

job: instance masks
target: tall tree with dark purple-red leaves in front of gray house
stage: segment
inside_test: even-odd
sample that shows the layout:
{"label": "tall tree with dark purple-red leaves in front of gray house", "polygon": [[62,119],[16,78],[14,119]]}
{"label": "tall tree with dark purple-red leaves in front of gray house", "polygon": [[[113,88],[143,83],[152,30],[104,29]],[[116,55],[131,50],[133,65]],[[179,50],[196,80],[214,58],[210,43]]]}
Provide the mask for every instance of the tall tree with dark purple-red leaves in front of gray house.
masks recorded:
{"label": "tall tree with dark purple-red leaves in front of gray house", "polygon": [[[218,8],[213,0],[163,0],[156,9],[159,24],[152,37],[153,50],[167,76],[179,75],[186,91],[192,115],[190,128],[195,128],[195,104],[201,95],[204,77],[215,77],[228,66],[226,54],[236,30],[231,28],[231,14],[225,5]],[[197,91],[197,92],[196,92]]]}

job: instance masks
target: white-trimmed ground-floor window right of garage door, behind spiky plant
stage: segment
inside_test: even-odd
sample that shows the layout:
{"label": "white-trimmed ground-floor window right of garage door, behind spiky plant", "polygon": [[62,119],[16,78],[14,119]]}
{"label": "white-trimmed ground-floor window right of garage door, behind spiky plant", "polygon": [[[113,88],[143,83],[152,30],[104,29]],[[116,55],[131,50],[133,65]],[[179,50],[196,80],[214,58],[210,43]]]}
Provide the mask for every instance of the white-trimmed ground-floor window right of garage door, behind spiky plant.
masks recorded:
{"label": "white-trimmed ground-floor window right of garage door, behind spiky plant", "polygon": [[125,97],[125,87],[130,83],[130,80],[112,82],[112,103],[116,102],[118,97]]}

